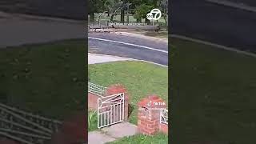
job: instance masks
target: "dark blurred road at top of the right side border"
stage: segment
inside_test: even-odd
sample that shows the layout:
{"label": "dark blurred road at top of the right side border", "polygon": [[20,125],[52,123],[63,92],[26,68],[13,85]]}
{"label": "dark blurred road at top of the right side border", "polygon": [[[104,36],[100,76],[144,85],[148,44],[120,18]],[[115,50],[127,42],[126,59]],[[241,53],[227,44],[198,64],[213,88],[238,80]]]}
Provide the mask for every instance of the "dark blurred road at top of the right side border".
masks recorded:
{"label": "dark blurred road at top of the right side border", "polygon": [[172,1],[171,31],[256,52],[256,13],[204,0]]}

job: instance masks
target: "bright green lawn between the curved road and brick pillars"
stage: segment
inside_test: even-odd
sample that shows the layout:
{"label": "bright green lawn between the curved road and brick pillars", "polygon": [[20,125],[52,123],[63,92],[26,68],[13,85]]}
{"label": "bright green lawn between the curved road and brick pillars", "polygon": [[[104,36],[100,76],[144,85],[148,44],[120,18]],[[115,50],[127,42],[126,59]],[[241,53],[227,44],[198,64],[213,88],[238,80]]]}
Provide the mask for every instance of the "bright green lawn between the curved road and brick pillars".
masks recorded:
{"label": "bright green lawn between the curved road and brick pillars", "polygon": [[109,62],[89,65],[90,82],[101,86],[120,83],[130,94],[134,110],[129,121],[137,124],[137,103],[149,94],[157,94],[168,102],[168,69],[146,62]]}

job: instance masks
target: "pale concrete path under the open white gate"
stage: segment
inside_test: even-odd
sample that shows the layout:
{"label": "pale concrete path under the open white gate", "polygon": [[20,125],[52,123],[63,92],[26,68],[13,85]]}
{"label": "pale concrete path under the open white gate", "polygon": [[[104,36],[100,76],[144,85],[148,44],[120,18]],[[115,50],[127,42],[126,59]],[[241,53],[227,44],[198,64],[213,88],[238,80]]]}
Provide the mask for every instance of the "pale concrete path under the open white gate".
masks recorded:
{"label": "pale concrete path under the open white gate", "polygon": [[137,126],[129,122],[122,122],[103,128],[100,131],[92,131],[88,134],[89,144],[104,144],[106,142],[113,142],[118,138],[132,136],[137,134]]}

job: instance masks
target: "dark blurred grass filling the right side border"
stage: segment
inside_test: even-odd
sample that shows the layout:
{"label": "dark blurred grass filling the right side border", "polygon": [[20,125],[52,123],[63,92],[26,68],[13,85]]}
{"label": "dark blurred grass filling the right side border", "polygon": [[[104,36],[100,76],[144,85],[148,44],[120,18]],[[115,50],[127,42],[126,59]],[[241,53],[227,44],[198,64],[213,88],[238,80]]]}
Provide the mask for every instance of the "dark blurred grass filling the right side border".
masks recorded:
{"label": "dark blurred grass filling the right side border", "polygon": [[256,143],[256,58],[170,42],[173,143]]}

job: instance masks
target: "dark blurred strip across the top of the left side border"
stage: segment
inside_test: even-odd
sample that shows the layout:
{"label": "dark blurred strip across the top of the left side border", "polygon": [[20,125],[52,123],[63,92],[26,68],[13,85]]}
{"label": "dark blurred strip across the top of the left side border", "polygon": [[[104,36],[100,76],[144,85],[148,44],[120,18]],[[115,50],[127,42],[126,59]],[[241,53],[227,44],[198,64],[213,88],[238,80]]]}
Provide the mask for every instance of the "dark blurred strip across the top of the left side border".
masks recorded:
{"label": "dark blurred strip across the top of the left side border", "polygon": [[0,11],[84,20],[85,0],[1,0]]}

